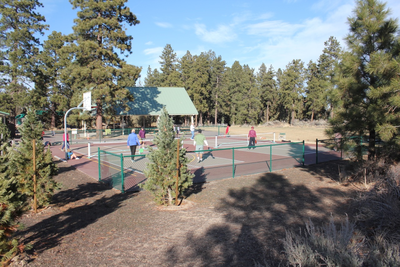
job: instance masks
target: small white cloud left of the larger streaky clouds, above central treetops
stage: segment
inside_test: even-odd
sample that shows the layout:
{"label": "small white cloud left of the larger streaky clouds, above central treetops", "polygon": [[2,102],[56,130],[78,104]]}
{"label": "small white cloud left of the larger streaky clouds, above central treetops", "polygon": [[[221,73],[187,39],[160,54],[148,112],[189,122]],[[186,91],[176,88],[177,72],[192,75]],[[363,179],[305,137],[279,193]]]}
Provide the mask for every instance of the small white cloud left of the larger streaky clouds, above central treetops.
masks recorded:
{"label": "small white cloud left of the larger streaky clouds, above central treetops", "polygon": [[207,30],[204,24],[195,24],[196,35],[204,42],[221,44],[224,42],[232,42],[237,35],[230,26],[220,25],[216,30]]}

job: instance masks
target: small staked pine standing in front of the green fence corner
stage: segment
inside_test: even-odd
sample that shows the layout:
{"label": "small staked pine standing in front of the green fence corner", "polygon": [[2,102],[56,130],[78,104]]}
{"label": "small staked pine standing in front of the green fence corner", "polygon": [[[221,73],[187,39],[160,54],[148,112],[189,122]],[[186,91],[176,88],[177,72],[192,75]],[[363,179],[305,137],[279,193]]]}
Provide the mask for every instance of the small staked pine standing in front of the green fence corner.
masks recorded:
{"label": "small staked pine standing in front of the green fence corner", "polygon": [[[172,205],[175,200],[177,142],[181,144],[186,138],[174,139],[173,125],[172,118],[164,108],[157,120],[159,134],[153,140],[158,149],[153,150],[149,146],[149,154],[146,155],[150,160],[144,170],[147,180],[140,186],[152,193],[157,204]],[[182,148],[179,152],[179,196],[193,184],[194,175],[188,170],[189,160],[185,155],[186,149]]]}

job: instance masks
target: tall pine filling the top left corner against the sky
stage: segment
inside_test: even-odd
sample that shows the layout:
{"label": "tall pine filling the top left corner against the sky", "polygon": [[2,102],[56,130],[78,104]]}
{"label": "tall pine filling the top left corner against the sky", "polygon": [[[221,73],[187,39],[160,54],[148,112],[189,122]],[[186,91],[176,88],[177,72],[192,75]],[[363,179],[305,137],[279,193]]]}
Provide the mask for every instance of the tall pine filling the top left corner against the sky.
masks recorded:
{"label": "tall pine filling the top left corner against the sky", "polygon": [[0,110],[12,116],[30,102],[26,85],[36,66],[37,35],[48,27],[38,7],[37,0],[0,0]]}

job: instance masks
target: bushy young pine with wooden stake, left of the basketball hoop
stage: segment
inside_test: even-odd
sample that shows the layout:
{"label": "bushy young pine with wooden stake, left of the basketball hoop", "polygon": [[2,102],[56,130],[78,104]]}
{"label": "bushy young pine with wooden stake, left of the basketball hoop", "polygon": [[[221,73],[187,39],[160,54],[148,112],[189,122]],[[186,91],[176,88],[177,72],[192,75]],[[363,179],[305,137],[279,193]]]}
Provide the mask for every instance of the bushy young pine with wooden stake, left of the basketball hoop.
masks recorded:
{"label": "bushy young pine with wooden stake, left of the basketball hoop", "polygon": [[58,168],[53,162],[50,150],[44,152],[44,145],[41,140],[43,125],[36,118],[36,111],[28,111],[22,127],[21,142],[10,161],[15,177],[18,180],[18,190],[25,194],[28,203],[33,207],[34,182],[33,182],[33,143],[36,140],[36,198],[38,206],[48,206],[54,195],[54,191],[60,188],[60,185],[53,180],[57,174]]}

